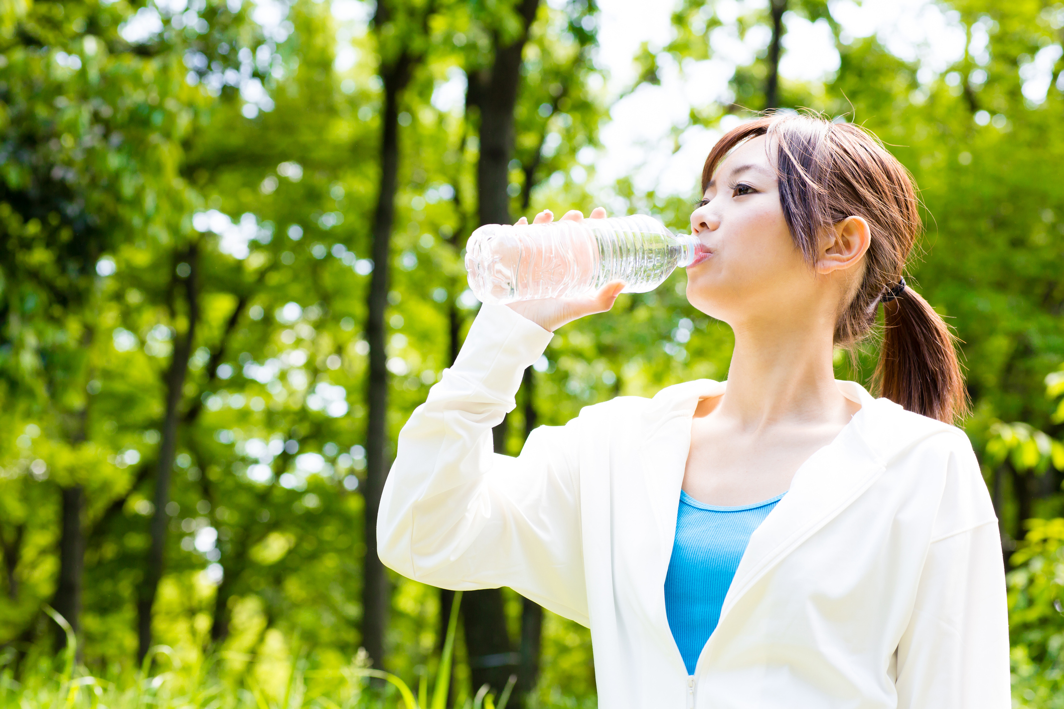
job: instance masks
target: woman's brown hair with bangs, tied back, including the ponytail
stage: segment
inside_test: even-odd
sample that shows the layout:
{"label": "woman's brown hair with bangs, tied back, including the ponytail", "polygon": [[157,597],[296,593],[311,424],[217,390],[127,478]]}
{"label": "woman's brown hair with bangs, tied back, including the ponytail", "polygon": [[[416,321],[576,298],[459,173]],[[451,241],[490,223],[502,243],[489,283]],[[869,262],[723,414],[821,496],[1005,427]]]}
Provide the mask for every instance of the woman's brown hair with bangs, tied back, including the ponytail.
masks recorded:
{"label": "woman's brown hair with bangs, tied back, including the ponytail", "polygon": [[[913,178],[879,139],[852,123],[771,114],[743,123],[713,147],[702,168],[702,192],[729,152],[767,135],[776,148],[780,205],[795,246],[812,266],[818,236],[850,216],[871,232],[865,272],[835,323],[837,344],[852,348],[876,325],[876,309],[902,277],[921,230]],[[967,412],[954,337],[934,308],[905,287],[883,302],[884,330],[875,388],[909,409],[952,423]]]}

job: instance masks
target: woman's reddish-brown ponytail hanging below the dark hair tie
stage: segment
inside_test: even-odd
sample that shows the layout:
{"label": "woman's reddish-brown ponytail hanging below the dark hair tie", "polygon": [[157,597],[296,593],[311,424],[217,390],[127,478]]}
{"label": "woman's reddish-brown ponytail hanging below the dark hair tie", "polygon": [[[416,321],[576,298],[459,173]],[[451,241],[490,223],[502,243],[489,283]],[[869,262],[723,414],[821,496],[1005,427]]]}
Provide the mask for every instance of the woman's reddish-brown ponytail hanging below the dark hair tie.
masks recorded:
{"label": "woman's reddish-brown ponytail hanging below the dark hair tie", "polygon": [[904,287],[883,303],[883,342],[874,375],[879,395],[946,423],[968,412],[957,337],[931,304]]}

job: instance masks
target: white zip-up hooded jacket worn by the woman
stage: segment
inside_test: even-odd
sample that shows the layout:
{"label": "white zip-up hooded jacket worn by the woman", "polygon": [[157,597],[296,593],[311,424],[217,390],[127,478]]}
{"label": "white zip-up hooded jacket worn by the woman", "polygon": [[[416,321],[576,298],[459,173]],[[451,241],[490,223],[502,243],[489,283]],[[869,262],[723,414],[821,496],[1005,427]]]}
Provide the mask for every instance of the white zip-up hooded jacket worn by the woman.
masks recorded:
{"label": "white zip-up hooded jacket worn by the woman", "polygon": [[484,305],[399,436],[381,560],[455,590],[509,586],[589,626],[602,709],[1008,709],[997,520],[958,428],[861,410],[750,538],[689,676],[664,583],[695,406],[725,384],[619,396],[492,450],[551,334]]}

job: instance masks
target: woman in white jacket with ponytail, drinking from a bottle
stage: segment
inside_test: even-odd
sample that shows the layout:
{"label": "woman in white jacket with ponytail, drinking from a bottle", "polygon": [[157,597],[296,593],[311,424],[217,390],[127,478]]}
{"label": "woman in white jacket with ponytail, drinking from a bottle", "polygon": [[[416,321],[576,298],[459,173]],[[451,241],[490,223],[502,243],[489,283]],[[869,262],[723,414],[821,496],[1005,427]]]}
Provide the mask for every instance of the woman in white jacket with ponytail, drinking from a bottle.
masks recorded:
{"label": "woman in white jacket with ponytail, drinking from a bottle", "polygon": [[[400,434],[381,559],[588,625],[604,709],[1005,709],[997,520],[950,425],[951,336],[902,278],[909,173],[858,126],[775,115],[720,139],[702,191],[687,298],[735,333],[727,383],[588,406],[496,455],[521,371],[621,285],[483,306]],[[832,354],[880,306],[875,399]]]}

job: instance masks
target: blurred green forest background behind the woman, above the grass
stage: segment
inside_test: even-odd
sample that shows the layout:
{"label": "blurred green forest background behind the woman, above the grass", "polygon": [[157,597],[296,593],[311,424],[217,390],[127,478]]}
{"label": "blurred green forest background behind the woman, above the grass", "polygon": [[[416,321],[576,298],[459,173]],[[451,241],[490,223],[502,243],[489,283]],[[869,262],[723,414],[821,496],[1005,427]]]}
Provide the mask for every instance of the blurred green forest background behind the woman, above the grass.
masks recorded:
{"label": "blurred green forest background behind the woman, above the grass", "polygon": [[[390,707],[353,670],[439,675],[452,594],[372,528],[478,308],[470,232],[686,231],[713,141],[778,107],[871,129],[921,188],[907,277],[963,341],[1015,706],[1064,706],[1062,40],[1047,0],[0,3],[3,703]],[[722,378],[684,284],[561,330],[496,449]],[[447,706],[511,675],[511,706],[595,706],[586,629],[461,608]]]}

